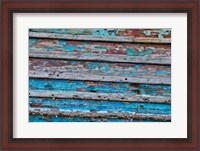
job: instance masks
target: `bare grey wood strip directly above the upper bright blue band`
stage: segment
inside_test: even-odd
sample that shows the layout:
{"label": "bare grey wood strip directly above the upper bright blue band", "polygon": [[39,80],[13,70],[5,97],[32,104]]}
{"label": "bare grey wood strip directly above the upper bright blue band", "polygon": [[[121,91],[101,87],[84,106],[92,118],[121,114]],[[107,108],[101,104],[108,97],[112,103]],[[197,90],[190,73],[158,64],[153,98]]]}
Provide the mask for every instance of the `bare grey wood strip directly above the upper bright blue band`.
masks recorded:
{"label": "bare grey wood strip directly above the upper bright blue band", "polygon": [[111,81],[111,82],[130,82],[130,83],[150,83],[150,84],[170,84],[170,78],[163,77],[128,77],[128,76],[107,76],[92,75],[71,72],[38,71],[29,70],[30,78],[47,79],[68,79],[68,80],[90,80],[90,81]]}

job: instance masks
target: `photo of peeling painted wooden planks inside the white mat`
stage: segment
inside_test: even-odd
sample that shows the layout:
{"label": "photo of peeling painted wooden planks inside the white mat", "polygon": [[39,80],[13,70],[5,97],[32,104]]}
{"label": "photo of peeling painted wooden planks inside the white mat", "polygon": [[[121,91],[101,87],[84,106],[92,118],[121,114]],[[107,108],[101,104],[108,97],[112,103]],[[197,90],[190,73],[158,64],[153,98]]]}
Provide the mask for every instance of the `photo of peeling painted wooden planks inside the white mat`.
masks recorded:
{"label": "photo of peeling painted wooden planks inside the white mat", "polygon": [[30,29],[29,121],[171,121],[171,29]]}

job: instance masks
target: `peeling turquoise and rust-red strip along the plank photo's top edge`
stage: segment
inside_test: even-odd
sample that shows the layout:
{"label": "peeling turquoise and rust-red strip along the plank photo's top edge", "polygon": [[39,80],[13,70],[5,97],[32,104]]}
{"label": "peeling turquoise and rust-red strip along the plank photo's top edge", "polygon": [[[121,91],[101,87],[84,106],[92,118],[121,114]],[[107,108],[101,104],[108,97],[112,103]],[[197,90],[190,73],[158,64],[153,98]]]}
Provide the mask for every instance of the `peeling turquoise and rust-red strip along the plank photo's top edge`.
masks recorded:
{"label": "peeling turquoise and rust-red strip along the plank photo's top edge", "polygon": [[170,38],[171,29],[104,29],[104,28],[71,28],[71,29],[30,29],[33,32],[61,33],[73,35],[95,35],[95,36],[135,36],[135,37],[152,37],[152,38]]}

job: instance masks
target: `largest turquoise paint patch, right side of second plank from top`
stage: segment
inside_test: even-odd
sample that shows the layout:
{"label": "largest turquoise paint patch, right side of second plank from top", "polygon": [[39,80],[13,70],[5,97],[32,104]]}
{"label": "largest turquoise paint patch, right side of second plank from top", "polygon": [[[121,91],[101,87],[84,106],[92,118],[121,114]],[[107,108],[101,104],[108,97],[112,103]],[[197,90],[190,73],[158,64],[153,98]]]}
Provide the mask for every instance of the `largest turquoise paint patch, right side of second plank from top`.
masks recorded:
{"label": "largest turquoise paint patch, right side of second plank from top", "polygon": [[153,52],[153,49],[147,48],[146,50],[143,51],[135,51],[132,48],[127,48],[126,49],[126,54],[130,56],[145,56],[148,54],[151,54]]}

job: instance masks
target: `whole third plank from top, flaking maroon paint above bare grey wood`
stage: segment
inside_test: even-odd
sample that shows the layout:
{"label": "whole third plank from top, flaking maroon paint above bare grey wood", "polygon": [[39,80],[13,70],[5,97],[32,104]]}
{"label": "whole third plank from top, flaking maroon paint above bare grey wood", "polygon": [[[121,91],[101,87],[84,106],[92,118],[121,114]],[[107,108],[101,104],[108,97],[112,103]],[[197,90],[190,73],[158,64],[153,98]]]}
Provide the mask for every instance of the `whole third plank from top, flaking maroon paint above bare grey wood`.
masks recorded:
{"label": "whole third plank from top, flaking maroon paint above bare grey wood", "polygon": [[144,82],[142,83],[150,83],[156,80],[155,83],[164,84],[170,84],[171,76],[170,66],[33,58],[29,59],[29,71],[31,77],[38,77],[40,74],[44,78],[49,75],[49,78],[62,79],[65,76],[68,78],[72,76],[71,78],[74,79],[74,76],[77,76],[79,80],[96,81],[104,79],[104,81],[117,80],[116,82],[137,82],[135,80],[143,79]]}

